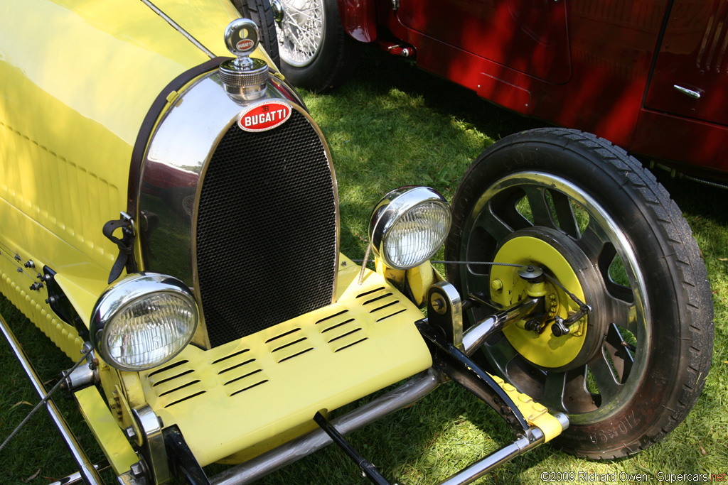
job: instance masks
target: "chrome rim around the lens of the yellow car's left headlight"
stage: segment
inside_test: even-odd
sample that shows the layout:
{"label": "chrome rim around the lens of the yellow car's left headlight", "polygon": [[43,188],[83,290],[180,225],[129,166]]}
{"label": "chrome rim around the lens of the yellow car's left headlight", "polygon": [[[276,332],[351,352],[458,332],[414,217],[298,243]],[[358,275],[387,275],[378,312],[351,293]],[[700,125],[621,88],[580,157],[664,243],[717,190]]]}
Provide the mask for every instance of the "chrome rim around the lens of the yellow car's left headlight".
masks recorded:
{"label": "chrome rim around the lens of the yellow car's left headlight", "polygon": [[[189,332],[184,334],[183,341],[172,353],[165,358],[150,364],[127,365],[112,356],[108,348],[109,324],[135,303],[155,296],[168,295],[183,300],[191,310],[193,324]],[[165,364],[165,362],[178,356],[189,345],[199,325],[199,307],[197,300],[186,284],[178,278],[162,273],[133,273],[127,275],[115,284],[109,286],[99,297],[93,309],[90,323],[90,337],[93,348],[107,364],[122,371],[141,372]]]}

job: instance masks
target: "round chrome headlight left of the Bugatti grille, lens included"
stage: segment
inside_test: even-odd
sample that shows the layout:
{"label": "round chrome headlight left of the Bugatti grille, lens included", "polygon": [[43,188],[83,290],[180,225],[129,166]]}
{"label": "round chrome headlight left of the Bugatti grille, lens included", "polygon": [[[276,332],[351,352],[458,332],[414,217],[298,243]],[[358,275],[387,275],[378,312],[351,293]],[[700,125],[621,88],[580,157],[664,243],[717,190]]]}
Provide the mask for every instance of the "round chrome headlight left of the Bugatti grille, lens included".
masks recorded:
{"label": "round chrome headlight left of the Bugatti grille, lens included", "polygon": [[182,281],[138,273],[99,298],[91,316],[92,342],[116,369],[151,369],[185,348],[198,318],[197,302]]}

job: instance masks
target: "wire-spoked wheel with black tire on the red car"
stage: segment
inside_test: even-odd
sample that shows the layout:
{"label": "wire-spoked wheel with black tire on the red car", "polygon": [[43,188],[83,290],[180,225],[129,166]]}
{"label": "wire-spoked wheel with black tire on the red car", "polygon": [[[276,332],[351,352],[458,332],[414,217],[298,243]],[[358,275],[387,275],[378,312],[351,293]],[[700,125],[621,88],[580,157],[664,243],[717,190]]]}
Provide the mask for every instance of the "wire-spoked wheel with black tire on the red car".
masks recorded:
{"label": "wire-spoked wheel with black tire on the red car", "polygon": [[[276,26],[283,75],[293,86],[314,92],[339,87],[354,71],[360,46],[344,31],[337,1],[307,1],[307,10],[316,13],[306,16],[306,23],[295,17],[295,2],[282,0],[281,4],[282,18]],[[314,18],[315,22],[312,20]],[[301,24],[317,40],[310,49],[299,47],[300,39],[304,38],[298,29]]]}

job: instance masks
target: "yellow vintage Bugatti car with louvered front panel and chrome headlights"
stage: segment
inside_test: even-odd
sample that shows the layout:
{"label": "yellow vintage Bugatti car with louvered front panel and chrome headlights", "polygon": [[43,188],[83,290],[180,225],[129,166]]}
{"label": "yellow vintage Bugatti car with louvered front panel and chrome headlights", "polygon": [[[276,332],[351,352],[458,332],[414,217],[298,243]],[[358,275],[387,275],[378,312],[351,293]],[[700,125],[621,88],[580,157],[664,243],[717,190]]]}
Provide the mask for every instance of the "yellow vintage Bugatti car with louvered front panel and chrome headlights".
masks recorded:
{"label": "yellow vintage Bugatti car with louvered front panel and chrome headlights", "polygon": [[[70,359],[58,388],[119,484],[246,484],[331,443],[387,484],[345,435],[446,382],[513,430],[447,484],[547,441],[623,457],[684,419],[710,287],[635,159],[574,130],[507,137],[450,204],[385,194],[355,263],[328,145],[258,47],[270,6],[237,5],[252,18],[226,0],[0,4],[0,290]],[[101,483],[47,407],[79,467],[63,484]]]}

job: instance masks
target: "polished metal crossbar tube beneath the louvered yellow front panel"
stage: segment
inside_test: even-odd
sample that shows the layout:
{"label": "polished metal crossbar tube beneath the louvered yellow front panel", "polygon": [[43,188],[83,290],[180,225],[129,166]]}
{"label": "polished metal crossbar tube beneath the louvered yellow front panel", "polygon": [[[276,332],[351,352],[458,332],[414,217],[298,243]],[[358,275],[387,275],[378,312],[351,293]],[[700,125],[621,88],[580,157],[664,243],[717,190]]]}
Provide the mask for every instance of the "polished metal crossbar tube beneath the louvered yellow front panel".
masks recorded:
{"label": "polished metal crossbar tube beneath the louvered yellow front panel", "polygon": [[[430,368],[417,374],[395,390],[331,421],[342,435],[352,433],[382,417],[399,411],[427,396],[440,385],[438,373]],[[211,485],[242,485],[258,480],[278,468],[290,465],[333,443],[324,430],[313,430],[258,457],[235,465],[210,479]]]}

